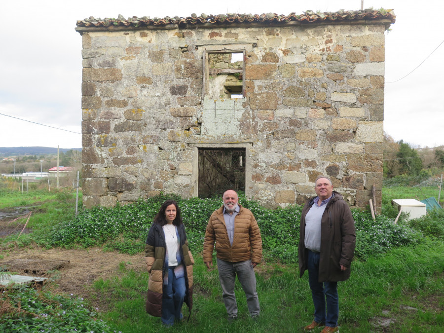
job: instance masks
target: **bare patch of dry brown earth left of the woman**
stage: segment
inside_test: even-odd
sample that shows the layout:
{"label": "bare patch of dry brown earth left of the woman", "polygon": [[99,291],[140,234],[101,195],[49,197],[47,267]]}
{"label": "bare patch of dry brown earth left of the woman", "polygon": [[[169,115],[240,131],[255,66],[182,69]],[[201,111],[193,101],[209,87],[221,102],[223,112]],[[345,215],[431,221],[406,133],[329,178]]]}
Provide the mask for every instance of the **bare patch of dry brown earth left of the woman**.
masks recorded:
{"label": "bare patch of dry brown earth left of the woman", "polygon": [[[0,259],[0,266],[7,265],[8,262],[26,263],[28,266],[21,266],[22,270],[16,270],[19,267],[11,267],[11,271],[20,275],[40,276],[52,278],[58,291],[74,294],[88,298],[92,283],[102,278],[104,280],[111,276],[119,276],[119,265],[121,262],[125,266],[135,271],[144,271],[146,269],[144,254],[134,256],[121,254],[117,252],[104,252],[100,248],[83,249],[49,249],[42,248],[25,249],[10,252]],[[56,270],[38,270],[35,274],[26,273],[36,267],[37,262],[64,262],[64,265]],[[49,265],[50,266],[50,265]],[[47,266],[47,267],[49,267]],[[148,290],[148,286],[147,286]]]}

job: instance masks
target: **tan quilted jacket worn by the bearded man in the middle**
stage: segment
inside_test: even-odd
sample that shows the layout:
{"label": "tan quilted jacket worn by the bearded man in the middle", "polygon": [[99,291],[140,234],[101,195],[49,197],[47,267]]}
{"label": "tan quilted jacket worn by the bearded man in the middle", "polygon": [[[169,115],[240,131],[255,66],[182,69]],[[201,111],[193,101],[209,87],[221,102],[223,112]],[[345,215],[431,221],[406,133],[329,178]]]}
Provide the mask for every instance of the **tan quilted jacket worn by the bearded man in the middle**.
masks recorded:
{"label": "tan quilted jacket worn by the bearded man in the middle", "polygon": [[223,219],[223,206],[216,210],[208,221],[203,248],[204,262],[213,262],[214,243],[216,257],[237,262],[251,259],[259,263],[262,259],[262,238],[258,222],[253,213],[239,205],[239,214],[234,218],[233,245],[230,245]]}

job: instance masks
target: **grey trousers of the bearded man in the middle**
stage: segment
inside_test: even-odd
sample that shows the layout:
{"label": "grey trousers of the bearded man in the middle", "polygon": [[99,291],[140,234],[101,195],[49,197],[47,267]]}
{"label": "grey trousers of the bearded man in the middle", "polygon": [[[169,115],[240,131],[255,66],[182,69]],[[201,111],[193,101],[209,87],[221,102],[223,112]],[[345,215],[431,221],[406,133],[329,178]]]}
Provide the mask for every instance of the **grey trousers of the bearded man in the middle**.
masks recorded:
{"label": "grey trousers of the bearded man in the middle", "polygon": [[247,297],[248,311],[252,317],[259,316],[259,298],[256,292],[256,276],[251,260],[230,262],[217,259],[219,281],[222,287],[222,298],[226,312],[230,317],[237,317],[237,303],[234,295],[234,280],[236,278],[242,285]]}

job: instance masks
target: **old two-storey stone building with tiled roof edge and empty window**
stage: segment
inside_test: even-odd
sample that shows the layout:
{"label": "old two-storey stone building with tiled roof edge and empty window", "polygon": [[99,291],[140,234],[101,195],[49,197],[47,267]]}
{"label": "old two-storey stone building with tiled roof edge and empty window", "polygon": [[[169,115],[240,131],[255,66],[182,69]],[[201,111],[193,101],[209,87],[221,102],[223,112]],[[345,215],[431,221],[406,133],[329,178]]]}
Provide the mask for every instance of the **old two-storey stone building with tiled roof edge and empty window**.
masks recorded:
{"label": "old two-storey stone building with tiled roof edge and empty window", "polygon": [[328,175],[381,203],[392,10],[77,21],[85,207],[243,190],[303,204]]}

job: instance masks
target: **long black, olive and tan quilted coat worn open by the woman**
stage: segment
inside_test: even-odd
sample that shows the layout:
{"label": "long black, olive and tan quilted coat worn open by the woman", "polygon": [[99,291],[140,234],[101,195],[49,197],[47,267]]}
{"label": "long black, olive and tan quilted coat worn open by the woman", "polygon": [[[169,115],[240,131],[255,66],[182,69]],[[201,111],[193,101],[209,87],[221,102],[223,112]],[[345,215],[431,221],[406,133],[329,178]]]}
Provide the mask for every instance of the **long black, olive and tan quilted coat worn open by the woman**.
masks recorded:
{"label": "long black, olive and tan quilted coat worn open by the woman", "polygon": [[[179,253],[182,258],[182,263],[185,264],[185,304],[189,310],[193,306],[193,264],[194,259],[191,252],[188,250],[188,241],[185,234],[184,224],[177,227],[177,233],[180,237]],[[148,238],[145,245],[145,260],[147,262],[147,269],[149,273],[148,280],[148,300],[147,312],[155,317],[160,317],[162,314],[162,291],[163,278],[165,275],[165,234],[162,226],[158,223],[153,223],[148,231]]]}

